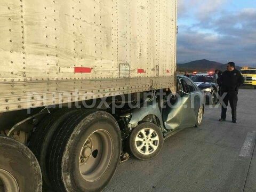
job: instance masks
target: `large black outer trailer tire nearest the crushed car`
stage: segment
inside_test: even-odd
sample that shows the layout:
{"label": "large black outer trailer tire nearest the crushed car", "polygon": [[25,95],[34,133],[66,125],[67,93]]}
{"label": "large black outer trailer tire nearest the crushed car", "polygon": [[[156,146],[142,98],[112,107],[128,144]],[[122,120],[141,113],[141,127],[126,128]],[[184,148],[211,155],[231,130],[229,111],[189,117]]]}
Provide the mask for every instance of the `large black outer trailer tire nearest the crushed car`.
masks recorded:
{"label": "large black outer trailer tire nearest the crushed car", "polygon": [[[94,164],[94,167],[87,162],[84,167],[93,171],[90,170],[82,176],[81,149],[88,149],[85,147],[85,141],[91,141],[96,134],[102,139],[102,143],[98,142],[97,145],[104,147],[99,147],[96,151],[91,146],[92,150],[90,149],[90,155],[87,156],[88,162],[89,159],[97,161],[94,160],[97,158],[99,162]],[[121,133],[115,118],[107,112],[94,109],[80,110],[62,122],[53,135],[49,149],[47,174],[56,191],[102,191],[113,178],[119,163]],[[91,177],[93,173],[97,177]],[[88,179],[89,177],[91,178]]]}

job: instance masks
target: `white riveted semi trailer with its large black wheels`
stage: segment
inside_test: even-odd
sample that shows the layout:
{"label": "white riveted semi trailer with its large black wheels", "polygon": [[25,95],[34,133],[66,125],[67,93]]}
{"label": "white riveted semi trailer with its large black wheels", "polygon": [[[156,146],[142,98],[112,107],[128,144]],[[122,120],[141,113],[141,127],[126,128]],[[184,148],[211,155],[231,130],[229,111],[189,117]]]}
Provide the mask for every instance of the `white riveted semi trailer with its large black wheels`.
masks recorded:
{"label": "white riveted semi trailer with its large black wheels", "polygon": [[161,144],[127,111],[174,93],[176,37],[176,0],[1,0],[0,191],[101,191],[135,127]]}

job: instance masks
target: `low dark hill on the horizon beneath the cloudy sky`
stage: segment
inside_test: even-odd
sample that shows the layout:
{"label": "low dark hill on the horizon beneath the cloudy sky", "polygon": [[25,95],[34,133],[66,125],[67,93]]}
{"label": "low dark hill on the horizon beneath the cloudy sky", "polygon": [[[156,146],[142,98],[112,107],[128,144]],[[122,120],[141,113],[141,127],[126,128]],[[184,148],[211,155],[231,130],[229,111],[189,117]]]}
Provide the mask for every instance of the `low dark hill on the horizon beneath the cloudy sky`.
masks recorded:
{"label": "low dark hill on the horizon beneath the cloudy sky", "polygon": [[[215,69],[219,69],[222,71],[226,70],[227,64],[222,64],[216,61],[209,61],[206,59],[191,61],[188,63],[177,63],[178,71],[214,71]],[[242,67],[236,66],[237,70],[240,70]]]}

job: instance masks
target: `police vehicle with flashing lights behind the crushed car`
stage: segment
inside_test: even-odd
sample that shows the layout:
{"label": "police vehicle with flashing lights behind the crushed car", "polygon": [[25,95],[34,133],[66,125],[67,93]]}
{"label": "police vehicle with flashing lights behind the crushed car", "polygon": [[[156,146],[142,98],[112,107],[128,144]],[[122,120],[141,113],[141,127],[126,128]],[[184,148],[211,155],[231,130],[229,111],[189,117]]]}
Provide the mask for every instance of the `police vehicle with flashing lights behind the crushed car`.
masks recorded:
{"label": "police vehicle with flashing lights behind the crushed car", "polygon": [[194,72],[189,78],[196,83],[196,85],[204,90],[206,94],[206,103],[214,105],[217,102],[217,93],[219,90],[219,85],[217,84],[217,79],[213,72],[209,73],[197,73]]}

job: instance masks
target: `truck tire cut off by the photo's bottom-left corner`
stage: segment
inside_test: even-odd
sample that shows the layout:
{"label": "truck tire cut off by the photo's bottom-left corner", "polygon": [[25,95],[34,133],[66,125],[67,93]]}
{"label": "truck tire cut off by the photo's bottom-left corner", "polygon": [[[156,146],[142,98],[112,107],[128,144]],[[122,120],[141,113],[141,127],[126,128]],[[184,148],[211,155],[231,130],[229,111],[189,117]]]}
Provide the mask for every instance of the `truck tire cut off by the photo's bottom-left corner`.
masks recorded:
{"label": "truck tire cut off by the photo's bottom-left corner", "polygon": [[[5,173],[7,173],[15,178],[13,181],[17,181],[11,188],[18,185],[19,191],[42,191],[40,166],[34,154],[25,145],[0,135],[0,154],[0,180],[6,179]],[[5,176],[3,176],[4,174]],[[1,179],[1,177],[5,178]],[[7,184],[8,182],[4,183],[5,187]],[[12,191],[10,188],[7,188],[6,191],[9,191],[8,189]]]}

